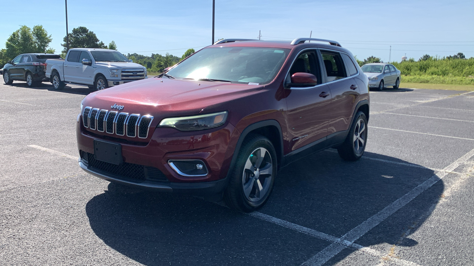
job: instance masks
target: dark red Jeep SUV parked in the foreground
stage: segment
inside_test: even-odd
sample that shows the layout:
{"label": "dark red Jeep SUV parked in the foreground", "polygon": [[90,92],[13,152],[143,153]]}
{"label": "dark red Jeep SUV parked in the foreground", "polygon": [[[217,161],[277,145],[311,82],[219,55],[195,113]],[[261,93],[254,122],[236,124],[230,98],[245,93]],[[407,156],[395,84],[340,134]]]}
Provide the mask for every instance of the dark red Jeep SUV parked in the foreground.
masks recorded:
{"label": "dark red Jeep SUV parked in the foreground", "polygon": [[290,162],[331,147],[344,160],[362,156],[367,86],[335,41],[221,40],[155,78],[84,98],[79,165],[110,182],[252,212]]}

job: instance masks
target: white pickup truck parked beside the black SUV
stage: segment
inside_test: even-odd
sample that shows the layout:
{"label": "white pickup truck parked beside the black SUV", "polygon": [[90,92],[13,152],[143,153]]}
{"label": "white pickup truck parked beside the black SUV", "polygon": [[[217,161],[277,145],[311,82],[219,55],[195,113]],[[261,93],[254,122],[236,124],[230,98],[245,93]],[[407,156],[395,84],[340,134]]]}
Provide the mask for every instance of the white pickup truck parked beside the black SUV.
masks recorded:
{"label": "white pickup truck parked beside the black SUV", "polygon": [[55,89],[69,83],[100,90],[147,78],[144,66],[109,49],[73,48],[66,59],[48,59],[46,64],[46,78]]}

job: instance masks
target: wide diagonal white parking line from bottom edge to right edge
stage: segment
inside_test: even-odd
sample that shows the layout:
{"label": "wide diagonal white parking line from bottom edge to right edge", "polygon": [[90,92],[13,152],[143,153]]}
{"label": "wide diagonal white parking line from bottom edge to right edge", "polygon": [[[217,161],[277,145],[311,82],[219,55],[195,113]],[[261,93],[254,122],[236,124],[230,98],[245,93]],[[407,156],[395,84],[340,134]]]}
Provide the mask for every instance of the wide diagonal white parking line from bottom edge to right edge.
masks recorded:
{"label": "wide diagonal white parking line from bottom edge to right edge", "polygon": [[[445,167],[443,169],[445,172],[441,172],[441,173],[438,173],[437,175],[430,177],[428,180],[419,184],[417,187],[413,188],[410,192],[403,195],[401,198],[397,199],[392,204],[383,208],[382,211],[374,214],[372,217],[367,219],[365,222],[359,224],[358,226],[356,226],[356,228],[352,229],[351,231],[348,231],[344,236],[341,237],[341,240],[347,240],[350,243],[354,243],[357,239],[365,235],[365,233],[367,233],[372,228],[377,226],[380,222],[387,219],[390,215],[392,215],[396,211],[400,210],[403,206],[408,204],[415,197],[417,197],[418,195],[423,193],[425,190],[427,190],[428,188],[436,184],[439,180],[443,179],[443,177],[446,177],[448,172],[454,171],[457,167],[465,163],[467,160],[469,160],[473,156],[474,156],[474,149],[467,152],[461,158],[457,159],[456,161],[454,161],[453,163]],[[329,259],[336,256],[337,253],[339,253],[344,248],[346,248],[346,245],[342,245],[340,243],[334,242],[328,247],[321,250],[319,253],[317,253],[313,257],[311,257],[309,260],[305,261],[302,265],[323,265]]]}

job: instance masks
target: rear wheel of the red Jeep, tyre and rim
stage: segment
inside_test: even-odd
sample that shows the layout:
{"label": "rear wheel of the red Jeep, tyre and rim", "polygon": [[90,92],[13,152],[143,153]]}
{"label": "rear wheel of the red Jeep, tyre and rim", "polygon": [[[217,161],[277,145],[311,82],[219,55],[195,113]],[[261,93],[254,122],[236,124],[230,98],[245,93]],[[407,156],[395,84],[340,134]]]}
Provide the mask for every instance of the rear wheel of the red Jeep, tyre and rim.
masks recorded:
{"label": "rear wheel of the red Jeep, tyre and rim", "polygon": [[352,121],[346,141],[337,148],[339,156],[346,161],[356,161],[364,154],[367,144],[367,117],[361,111],[357,112]]}

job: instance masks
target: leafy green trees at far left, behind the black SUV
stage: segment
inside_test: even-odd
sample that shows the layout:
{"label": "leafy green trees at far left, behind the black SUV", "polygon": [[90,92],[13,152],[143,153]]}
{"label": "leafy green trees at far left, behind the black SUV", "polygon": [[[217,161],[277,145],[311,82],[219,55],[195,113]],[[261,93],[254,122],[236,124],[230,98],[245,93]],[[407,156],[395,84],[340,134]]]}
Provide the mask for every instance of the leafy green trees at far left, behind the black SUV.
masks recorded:
{"label": "leafy green trees at far left, behind the black SUV", "polygon": [[26,25],[22,25],[7,39],[4,56],[13,59],[21,53],[45,53],[51,40],[51,35],[48,35],[43,26],[36,25],[31,30]]}

